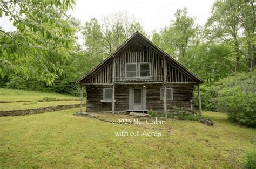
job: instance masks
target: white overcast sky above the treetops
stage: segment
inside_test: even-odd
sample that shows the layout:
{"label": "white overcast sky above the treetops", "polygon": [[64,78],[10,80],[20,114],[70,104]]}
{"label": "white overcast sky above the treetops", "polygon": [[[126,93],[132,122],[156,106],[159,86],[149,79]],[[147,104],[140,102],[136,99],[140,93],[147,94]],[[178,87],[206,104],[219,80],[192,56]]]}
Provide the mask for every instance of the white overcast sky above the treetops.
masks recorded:
{"label": "white overcast sky above the treetops", "polygon": [[[75,9],[69,13],[84,24],[91,18],[100,21],[103,15],[127,11],[136,17],[147,34],[151,34],[153,30],[159,31],[168,26],[177,9],[185,6],[190,15],[197,18],[196,22],[203,26],[211,15],[213,2],[214,0],[76,0]],[[0,18],[0,26],[5,31],[15,30],[4,16]]]}

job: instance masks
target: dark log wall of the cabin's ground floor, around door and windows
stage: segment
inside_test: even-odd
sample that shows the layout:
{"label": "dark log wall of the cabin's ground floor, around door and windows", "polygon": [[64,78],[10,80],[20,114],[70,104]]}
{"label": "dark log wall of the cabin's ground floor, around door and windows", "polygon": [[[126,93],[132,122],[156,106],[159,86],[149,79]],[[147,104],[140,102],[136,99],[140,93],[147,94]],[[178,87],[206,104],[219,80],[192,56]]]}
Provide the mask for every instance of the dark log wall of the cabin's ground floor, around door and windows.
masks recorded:
{"label": "dark log wall of the cabin's ground floor, around door and windows", "polygon": [[[103,100],[103,89],[111,88],[111,85],[87,85],[86,86],[86,111],[112,111],[112,103],[101,103]],[[147,110],[164,112],[164,101],[160,100],[161,84],[146,85],[146,108]],[[167,100],[167,110],[177,112],[173,106],[179,107],[180,110],[190,111],[191,100],[194,110],[193,85],[167,85],[173,88],[173,100]],[[115,87],[115,111],[126,111],[129,109],[129,85],[116,85]]]}

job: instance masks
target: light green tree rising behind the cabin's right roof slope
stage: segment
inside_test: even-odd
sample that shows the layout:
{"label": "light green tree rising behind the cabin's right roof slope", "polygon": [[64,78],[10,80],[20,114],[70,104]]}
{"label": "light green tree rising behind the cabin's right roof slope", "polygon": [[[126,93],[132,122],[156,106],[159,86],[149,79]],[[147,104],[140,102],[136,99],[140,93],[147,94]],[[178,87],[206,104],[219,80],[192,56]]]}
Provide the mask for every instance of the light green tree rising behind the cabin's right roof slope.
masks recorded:
{"label": "light green tree rising behind the cabin's right roof slope", "polygon": [[[160,34],[153,34],[153,42],[167,53],[186,65],[187,52],[199,43],[199,26],[195,18],[188,16],[187,8],[178,9],[169,27],[161,30]],[[161,40],[159,41],[159,38]]]}

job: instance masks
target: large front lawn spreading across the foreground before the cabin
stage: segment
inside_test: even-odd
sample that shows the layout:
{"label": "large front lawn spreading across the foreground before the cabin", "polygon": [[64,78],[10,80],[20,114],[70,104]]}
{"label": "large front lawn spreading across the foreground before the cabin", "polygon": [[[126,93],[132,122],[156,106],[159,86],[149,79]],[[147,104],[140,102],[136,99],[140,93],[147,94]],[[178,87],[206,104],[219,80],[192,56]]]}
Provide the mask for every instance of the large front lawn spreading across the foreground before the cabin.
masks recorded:
{"label": "large front lawn spreading across the foreground before the cabin", "polygon": [[[73,116],[77,110],[0,117],[0,167],[241,168],[243,153],[256,149],[254,129],[218,112],[204,112],[214,126],[173,119],[117,125]],[[124,129],[161,136],[115,136]]]}

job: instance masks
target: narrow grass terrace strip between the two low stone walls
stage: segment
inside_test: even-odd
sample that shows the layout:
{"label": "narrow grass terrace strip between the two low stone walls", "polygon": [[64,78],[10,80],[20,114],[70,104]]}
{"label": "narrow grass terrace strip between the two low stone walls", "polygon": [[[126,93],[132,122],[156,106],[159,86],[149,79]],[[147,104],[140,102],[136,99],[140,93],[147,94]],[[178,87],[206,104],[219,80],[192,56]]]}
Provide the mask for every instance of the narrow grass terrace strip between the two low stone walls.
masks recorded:
{"label": "narrow grass terrace strip between the two low stone walls", "polygon": [[80,104],[80,101],[0,103],[0,111],[35,109],[41,107],[70,104]]}

